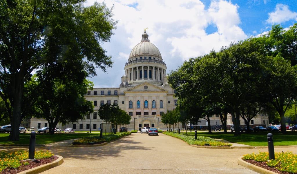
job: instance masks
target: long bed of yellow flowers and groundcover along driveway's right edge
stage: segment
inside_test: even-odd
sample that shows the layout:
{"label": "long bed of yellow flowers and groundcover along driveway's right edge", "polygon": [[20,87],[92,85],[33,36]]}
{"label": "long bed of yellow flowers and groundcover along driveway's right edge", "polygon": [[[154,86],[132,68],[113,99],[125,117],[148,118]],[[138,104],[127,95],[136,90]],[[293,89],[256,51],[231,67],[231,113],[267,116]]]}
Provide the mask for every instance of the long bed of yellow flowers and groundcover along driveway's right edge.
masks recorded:
{"label": "long bed of yellow flowers and groundcover along driveway's right edge", "polygon": [[173,132],[163,132],[163,134],[182,139],[188,144],[193,144],[193,145],[205,146],[207,144],[210,146],[232,146],[232,144],[230,143],[222,143],[210,137],[197,136],[197,140],[195,140],[195,137],[193,135],[183,135],[183,134],[178,134]]}

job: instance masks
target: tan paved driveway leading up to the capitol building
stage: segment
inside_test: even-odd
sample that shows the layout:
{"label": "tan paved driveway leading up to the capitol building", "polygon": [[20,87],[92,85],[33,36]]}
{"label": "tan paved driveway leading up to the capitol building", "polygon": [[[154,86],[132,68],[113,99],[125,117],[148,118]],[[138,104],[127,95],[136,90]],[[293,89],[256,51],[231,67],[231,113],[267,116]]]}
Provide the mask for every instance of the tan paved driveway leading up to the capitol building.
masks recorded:
{"label": "tan paved driveway leading up to the capitol building", "polygon": [[[132,134],[104,146],[42,147],[64,158],[43,174],[62,173],[255,173],[237,158],[266,149],[206,149],[189,146],[168,135]],[[297,148],[275,148],[276,152]]]}

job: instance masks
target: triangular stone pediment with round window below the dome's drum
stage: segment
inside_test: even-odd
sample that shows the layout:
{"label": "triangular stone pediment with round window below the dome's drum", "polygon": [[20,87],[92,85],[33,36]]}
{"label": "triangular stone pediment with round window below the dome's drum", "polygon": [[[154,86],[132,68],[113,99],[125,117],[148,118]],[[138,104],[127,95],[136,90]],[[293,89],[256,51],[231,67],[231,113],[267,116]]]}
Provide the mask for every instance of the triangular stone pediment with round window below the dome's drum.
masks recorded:
{"label": "triangular stone pediment with round window below the dome's drum", "polygon": [[167,90],[160,88],[148,82],[141,83],[132,88],[127,89],[125,92],[168,92]]}

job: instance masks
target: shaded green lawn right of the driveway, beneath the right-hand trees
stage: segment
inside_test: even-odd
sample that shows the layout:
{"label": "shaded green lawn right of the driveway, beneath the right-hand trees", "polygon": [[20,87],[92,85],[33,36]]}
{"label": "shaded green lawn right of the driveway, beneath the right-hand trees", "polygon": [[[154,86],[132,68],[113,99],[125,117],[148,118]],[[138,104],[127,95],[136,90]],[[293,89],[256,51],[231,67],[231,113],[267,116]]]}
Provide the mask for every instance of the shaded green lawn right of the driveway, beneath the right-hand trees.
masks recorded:
{"label": "shaded green lawn right of the driveway, beneath the right-hand trees", "polygon": [[[190,132],[188,132],[189,135]],[[243,132],[240,136],[234,136],[234,132],[223,131],[212,131],[212,134],[208,134],[205,131],[197,131],[197,136],[206,136],[214,139],[224,139],[230,141],[231,143],[246,144],[251,146],[267,146],[267,134],[270,132]],[[185,134],[185,132],[184,132]],[[192,131],[192,136],[195,132]],[[284,135],[280,131],[272,132],[274,145],[297,145],[297,131],[287,131]]]}

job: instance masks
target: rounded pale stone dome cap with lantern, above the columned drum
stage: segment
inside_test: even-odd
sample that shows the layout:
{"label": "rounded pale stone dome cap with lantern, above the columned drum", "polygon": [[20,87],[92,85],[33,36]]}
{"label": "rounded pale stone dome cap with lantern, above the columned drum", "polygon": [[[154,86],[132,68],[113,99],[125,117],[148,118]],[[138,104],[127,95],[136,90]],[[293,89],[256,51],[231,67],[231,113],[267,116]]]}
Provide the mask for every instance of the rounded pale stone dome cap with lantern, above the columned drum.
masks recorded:
{"label": "rounded pale stone dome cap with lantern, above the columned drum", "polygon": [[138,43],[131,51],[129,58],[141,55],[152,55],[159,58],[162,58],[159,49],[149,42],[148,34],[146,31],[142,34],[141,42]]}

